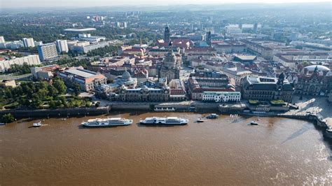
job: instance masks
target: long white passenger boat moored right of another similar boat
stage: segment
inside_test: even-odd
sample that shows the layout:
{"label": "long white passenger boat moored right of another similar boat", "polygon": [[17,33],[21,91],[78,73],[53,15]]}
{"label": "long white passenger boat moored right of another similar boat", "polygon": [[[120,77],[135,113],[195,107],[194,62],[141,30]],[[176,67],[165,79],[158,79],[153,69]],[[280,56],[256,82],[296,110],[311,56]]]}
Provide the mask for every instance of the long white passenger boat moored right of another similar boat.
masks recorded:
{"label": "long white passenger boat moored right of another similar boat", "polygon": [[177,125],[177,124],[188,124],[187,119],[181,117],[146,117],[145,120],[140,120],[141,124],[169,124],[169,125]]}

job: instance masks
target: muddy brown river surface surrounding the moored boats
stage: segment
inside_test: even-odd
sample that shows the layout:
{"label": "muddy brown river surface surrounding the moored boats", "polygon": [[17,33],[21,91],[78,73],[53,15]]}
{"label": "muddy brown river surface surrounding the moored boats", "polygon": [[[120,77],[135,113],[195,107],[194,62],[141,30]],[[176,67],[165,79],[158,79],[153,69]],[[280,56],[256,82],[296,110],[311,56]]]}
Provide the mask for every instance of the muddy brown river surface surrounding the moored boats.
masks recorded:
{"label": "muddy brown river surface surrounding the moored boats", "polygon": [[[145,127],[140,118],[186,117]],[[0,185],[332,185],[331,143],[314,124],[279,117],[197,123],[198,113],[111,113],[128,127],[86,129],[74,117],[0,126]],[[106,116],[99,116],[106,117]]]}

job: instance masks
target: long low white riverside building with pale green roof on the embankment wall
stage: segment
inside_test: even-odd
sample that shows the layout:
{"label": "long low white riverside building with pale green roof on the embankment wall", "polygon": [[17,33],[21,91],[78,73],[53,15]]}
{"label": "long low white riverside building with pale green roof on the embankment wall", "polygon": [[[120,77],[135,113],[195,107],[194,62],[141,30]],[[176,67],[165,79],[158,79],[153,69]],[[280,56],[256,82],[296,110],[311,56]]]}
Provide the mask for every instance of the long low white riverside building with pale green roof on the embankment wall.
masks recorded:
{"label": "long low white riverside building with pale green roof on the embankment wall", "polygon": [[202,101],[228,102],[240,101],[241,92],[203,92]]}

